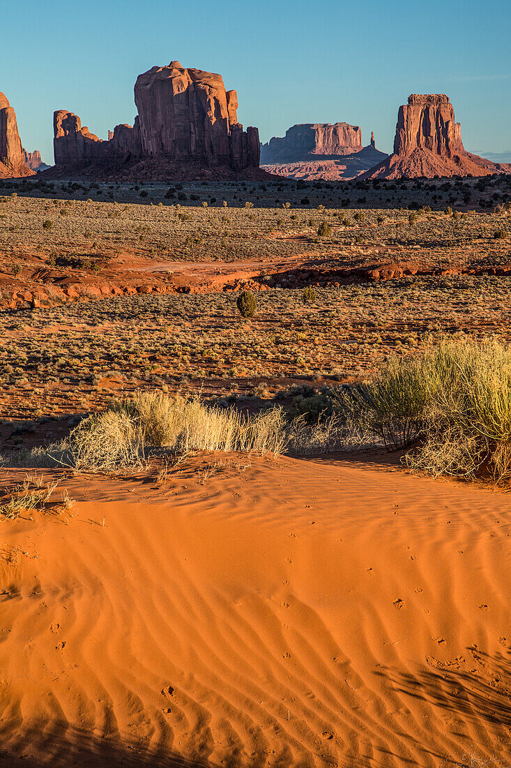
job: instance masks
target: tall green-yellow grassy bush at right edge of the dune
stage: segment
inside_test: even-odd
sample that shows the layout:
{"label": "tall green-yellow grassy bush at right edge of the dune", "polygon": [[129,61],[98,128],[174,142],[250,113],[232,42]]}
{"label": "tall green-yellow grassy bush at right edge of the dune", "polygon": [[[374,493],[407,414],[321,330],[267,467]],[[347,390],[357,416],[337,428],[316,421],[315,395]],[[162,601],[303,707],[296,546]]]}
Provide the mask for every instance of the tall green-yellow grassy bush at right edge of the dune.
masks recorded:
{"label": "tall green-yellow grassy bush at right edge of the dune", "polygon": [[392,359],[359,390],[387,445],[417,449],[407,465],[432,475],[496,482],[511,477],[511,351],[497,343],[444,341],[422,356]]}

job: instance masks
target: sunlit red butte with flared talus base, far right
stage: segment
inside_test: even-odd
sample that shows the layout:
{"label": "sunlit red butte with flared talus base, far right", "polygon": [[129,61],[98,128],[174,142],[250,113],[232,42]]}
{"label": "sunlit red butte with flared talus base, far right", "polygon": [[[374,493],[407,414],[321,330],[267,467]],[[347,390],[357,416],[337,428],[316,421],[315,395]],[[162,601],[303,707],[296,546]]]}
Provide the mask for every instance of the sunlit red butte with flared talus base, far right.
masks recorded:
{"label": "sunlit red butte with flared talus base, far right", "polygon": [[362,179],[486,176],[511,172],[511,165],[470,154],[446,94],[411,94],[397,114],[394,154],[361,175]]}

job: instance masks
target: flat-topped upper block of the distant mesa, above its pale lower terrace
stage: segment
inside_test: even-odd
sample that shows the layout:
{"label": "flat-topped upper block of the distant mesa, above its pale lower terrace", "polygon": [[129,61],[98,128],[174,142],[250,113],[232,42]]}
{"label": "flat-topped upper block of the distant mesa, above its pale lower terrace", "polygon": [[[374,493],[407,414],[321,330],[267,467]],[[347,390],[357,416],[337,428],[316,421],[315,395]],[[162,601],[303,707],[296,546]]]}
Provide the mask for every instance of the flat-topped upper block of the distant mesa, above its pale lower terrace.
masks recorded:
{"label": "flat-topped upper block of the distant mesa, above its pale lower terrace", "polygon": [[361,149],[362,132],[358,125],[304,123],[292,125],[284,137],[273,137],[268,144],[262,144],[261,162],[297,162],[312,160],[311,155],[342,156]]}

